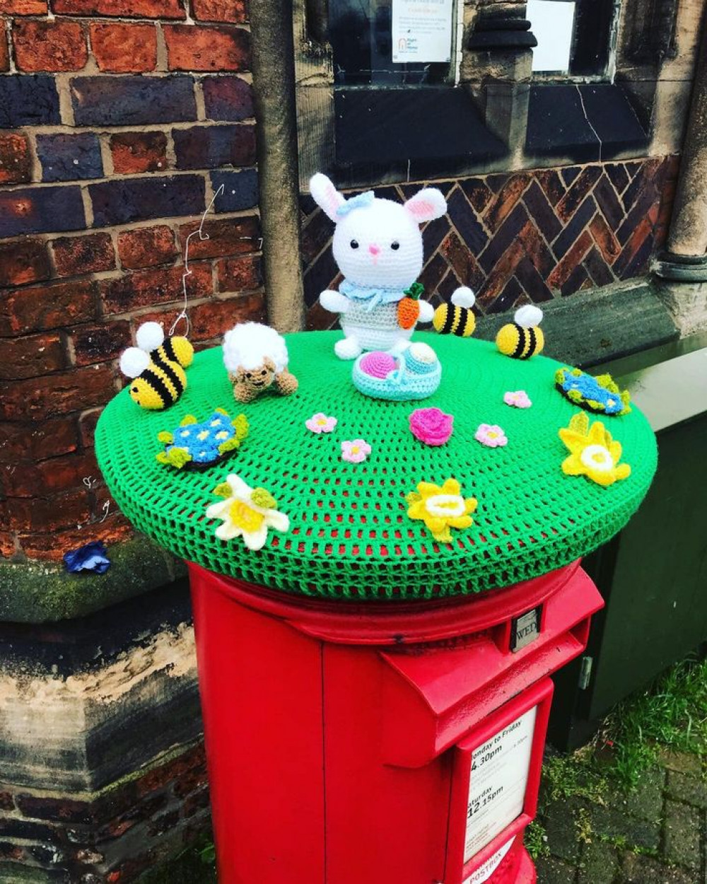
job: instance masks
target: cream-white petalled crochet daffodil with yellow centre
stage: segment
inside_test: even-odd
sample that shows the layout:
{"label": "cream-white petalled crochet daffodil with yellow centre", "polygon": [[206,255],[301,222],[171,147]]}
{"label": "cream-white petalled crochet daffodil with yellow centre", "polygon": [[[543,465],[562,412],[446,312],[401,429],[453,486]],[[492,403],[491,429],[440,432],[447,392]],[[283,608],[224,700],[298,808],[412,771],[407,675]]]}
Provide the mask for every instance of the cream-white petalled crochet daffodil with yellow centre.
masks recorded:
{"label": "cream-white petalled crochet daffodil with yellow centre", "polygon": [[259,550],[268,538],[268,529],[286,531],[290,520],[277,511],[275,498],[264,488],[251,488],[239,476],[228,476],[214,489],[224,498],[211,504],[206,514],[209,519],[223,519],[216,530],[221,540],[243,537],[248,549]]}

